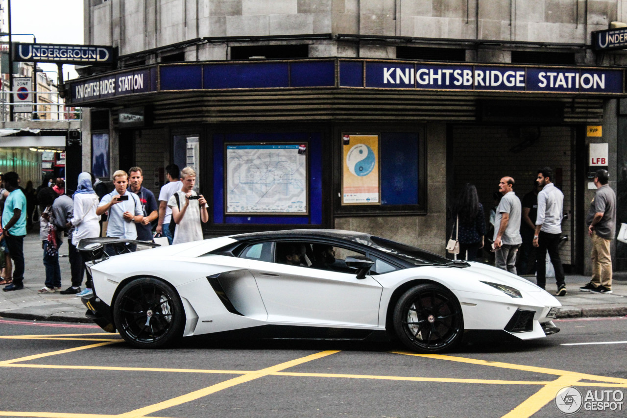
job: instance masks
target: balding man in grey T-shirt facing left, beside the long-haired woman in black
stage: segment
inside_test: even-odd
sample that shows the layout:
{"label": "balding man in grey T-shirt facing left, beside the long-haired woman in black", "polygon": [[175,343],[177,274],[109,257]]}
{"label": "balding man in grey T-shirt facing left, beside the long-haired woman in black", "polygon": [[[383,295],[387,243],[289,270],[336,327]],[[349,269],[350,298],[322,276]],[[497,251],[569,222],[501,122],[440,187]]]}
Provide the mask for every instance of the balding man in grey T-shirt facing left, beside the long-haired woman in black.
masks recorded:
{"label": "balding man in grey T-shirt facing left, beside the long-haired woman in black", "polygon": [[516,274],[516,253],[522,244],[520,236],[520,199],[514,193],[514,179],[503,177],[498,183],[498,191],[502,193],[497,206],[494,225],[494,250],[496,264],[499,269]]}

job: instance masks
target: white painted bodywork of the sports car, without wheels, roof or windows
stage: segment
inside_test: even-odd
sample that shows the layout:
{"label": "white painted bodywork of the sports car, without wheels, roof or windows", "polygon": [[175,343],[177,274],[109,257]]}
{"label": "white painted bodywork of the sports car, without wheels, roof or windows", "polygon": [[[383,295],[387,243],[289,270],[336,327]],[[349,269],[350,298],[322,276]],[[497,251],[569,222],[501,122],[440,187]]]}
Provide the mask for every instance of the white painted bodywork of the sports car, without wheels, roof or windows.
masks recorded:
{"label": "white painted bodywork of the sports car, without wheels, roof or windows", "polygon": [[[111,305],[120,282],[150,276],[176,287],[186,311],[184,335],[250,328],[264,324],[385,330],[394,291],[410,281],[430,281],[450,289],[461,303],[465,330],[502,330],[517,309],[535,311],[534,329],[521,340],[544,337],[541,323],[557,299],[522,277],[489,265],[423,266],[367,276],[208,254],[236,242],[230,237],[172,245],[112,257],[92,266],[97,296]],[[229,312],[208,276],[219,276],[234,308]],[[514,298],[480,281],[518,289]],[[394,303],[395,301],[392,301]]]}

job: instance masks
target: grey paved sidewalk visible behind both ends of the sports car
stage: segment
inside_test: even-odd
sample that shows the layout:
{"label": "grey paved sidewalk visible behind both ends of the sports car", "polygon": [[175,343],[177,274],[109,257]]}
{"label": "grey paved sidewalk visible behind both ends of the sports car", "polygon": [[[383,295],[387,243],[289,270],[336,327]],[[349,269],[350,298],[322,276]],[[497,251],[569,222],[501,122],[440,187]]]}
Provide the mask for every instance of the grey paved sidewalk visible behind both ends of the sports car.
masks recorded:
{"label": "grey paved sidewalk visible behind both ends of the sports car", "polygon": [[[67,257],[67,238],[60,248],[59,264],[63,286],[70,286],[70,261]],[[29,233],[24,238],[24,259],[26,272],[24,274],[24,289],[14,292],[0,292],[0,317],[34,319],[38,321],[68,321],[91,323],[85,318],[87,309],[80,301],[80,297],[53,294],[39,294],[43,287],[45,274],[43,269],[43,250],[39,233]],[[534,277],[527,277],[535,282]],[[557,299],[562,303],[562,310],[558,318],[578,318],[593,316],[624,316],[627,315],[627,277],[614,277],[613,294],[593,294],[580,292],[579,286],[590,281],[589,277],[566,276],[568,294]],[[84,284],[84,282],[83,282]],[[547,279],[547,289],[554,292],[554,279]]]}

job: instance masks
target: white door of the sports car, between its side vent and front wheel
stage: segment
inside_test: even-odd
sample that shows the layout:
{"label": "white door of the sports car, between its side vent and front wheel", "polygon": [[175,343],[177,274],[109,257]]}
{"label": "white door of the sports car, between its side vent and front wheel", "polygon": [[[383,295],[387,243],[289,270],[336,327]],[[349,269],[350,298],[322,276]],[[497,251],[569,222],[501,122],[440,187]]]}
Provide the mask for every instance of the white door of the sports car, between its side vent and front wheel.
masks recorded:
{"label": "white door of the sports car, between its side vent and front wheel", "polygon": [[[275,243],[275,248],[282,244],[285,243]],[[306,243],[309,249],[312,244]],[[347,255],[360,253],[340,250],[342,254],[338,254],[338,265],[329,269],[314,267],[306,256],[302,265],[275,262],[278,250],[273,252],[275,255],[270,260],[248,259],[247,267],[255,276],[268,321],[377,326],[382,286],[371,276],[358,280],[357,272],[348,269],[345,264],[342,266],[342,262]]]}

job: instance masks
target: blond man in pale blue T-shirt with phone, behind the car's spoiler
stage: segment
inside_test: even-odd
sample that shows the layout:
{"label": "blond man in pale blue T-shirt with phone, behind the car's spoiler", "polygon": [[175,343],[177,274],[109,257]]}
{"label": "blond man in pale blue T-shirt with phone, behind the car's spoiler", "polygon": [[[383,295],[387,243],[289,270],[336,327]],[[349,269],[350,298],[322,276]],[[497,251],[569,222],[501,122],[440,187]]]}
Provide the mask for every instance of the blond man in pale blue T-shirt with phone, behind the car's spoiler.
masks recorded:
{"label": "blond man in pale blue T-shirt with phone, behind the car's spoiler", "polygon": [[135,223],[144,220],[144,212],[139,198],[127,190],[129,174],[118,170],[113,173],[115,190],[104,195],[96,209],[96,215],[108,215],[107,237],[137,239]]}

